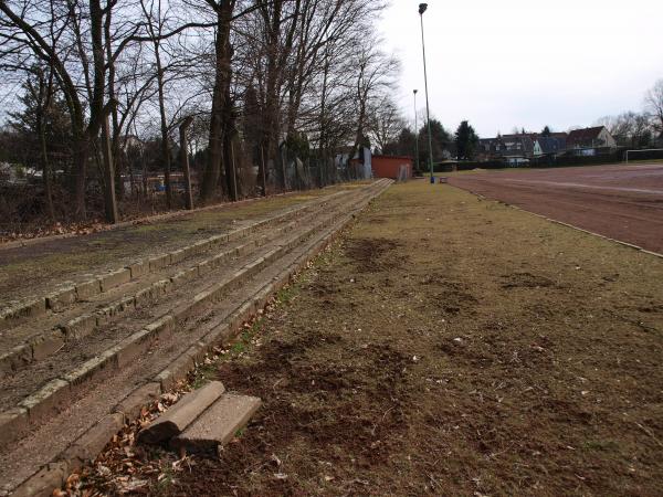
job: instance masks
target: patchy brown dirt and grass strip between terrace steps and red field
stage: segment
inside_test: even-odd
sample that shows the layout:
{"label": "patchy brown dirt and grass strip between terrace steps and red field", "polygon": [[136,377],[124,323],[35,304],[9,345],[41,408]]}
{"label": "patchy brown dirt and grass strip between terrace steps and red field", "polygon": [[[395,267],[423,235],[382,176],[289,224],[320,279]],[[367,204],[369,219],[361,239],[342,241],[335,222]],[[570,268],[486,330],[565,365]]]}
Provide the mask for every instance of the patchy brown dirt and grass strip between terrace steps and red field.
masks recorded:
{"label": "patchy brown dirt and grass strip between terrace steps and red field", "polygon": [[198,372],[263,400],[220,458],[133,447],[84,488],[662,495],[662,281],[655,256],[393,186]]}

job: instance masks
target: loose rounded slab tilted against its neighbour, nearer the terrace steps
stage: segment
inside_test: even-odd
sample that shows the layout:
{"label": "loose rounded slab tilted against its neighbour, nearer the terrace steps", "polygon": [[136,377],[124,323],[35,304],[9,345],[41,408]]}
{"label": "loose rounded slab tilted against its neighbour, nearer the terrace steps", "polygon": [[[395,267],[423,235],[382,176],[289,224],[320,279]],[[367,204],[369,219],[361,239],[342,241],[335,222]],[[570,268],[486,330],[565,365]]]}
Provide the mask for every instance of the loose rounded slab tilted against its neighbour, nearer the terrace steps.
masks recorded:
{"label": "loose rounded slab tilted against its neighbour, nearer the terrace steps", "polygon": [[200,416],[225,388],[220,381],[212,381],[203,388],[185,395],[156,421],[138,433],[138,440],[148,444],[158,444],[179,435],[193,420]]}

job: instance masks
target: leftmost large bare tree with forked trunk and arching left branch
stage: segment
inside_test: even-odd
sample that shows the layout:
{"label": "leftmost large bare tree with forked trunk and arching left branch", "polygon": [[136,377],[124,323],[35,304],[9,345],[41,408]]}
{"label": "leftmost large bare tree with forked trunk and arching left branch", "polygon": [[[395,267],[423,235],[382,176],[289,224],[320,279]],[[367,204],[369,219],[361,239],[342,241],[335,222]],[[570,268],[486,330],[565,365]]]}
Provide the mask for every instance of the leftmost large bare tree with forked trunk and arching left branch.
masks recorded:
{"label": "leftmost large bare tree with forked trunk and arching left branch", "polygon": [[[112,103],[105,97],[106,67],[112,63],[105,56],[104,22],[115,4],[109,2],[102,8],[101,0],[90,0],[83,14],[82,7],[74,0],[0,2],[2,65],[20,70],[34,60],[42,61],[52,70],[64,93],[75,144],[72,184],[75,211],[80,216],[85,216],[91,145],[112,109]],[[85,33],[81,25],[83,21],[87,23]],[[78,91],[80,75],[83,75],[86,94]]]}

